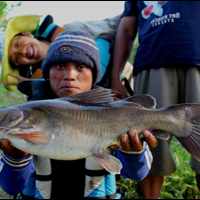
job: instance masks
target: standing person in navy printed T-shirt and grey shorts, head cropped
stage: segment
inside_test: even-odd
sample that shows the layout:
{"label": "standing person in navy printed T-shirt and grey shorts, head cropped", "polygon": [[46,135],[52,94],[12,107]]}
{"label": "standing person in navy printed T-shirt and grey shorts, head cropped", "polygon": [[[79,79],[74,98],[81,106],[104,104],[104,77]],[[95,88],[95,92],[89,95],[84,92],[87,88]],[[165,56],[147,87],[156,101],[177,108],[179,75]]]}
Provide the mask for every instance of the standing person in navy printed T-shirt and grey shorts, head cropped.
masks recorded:
{"label": "standing person in navy printed T-shirt and grey shorts, head cropped", "polygon": [[[114,42],[111,88],[124,98],[119,75],[135,37],[139,46],[134,60],[134,94],[150,94],[157,108],[200,102],[200,2],[126,1]],[[138,182],[147,199],[157,199],[165,176],[176,170],[170,140],[152,149],[154,161],[149,175]],[[191,158],[200,189],[200,164]]]}

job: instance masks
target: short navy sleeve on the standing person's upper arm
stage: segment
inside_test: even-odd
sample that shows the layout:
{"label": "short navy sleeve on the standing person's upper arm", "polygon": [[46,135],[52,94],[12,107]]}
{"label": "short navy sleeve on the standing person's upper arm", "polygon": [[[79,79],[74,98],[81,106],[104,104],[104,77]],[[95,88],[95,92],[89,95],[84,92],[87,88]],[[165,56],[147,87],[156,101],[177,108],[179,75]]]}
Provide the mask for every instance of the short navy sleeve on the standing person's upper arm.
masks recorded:
{"label": "short navy sleeve on the standing person's upper arm", "polygon": [[125,1],[124,11],[121,17],[138,16],[138,15],[139,15],[139,9],[137,6],[137,1]]}

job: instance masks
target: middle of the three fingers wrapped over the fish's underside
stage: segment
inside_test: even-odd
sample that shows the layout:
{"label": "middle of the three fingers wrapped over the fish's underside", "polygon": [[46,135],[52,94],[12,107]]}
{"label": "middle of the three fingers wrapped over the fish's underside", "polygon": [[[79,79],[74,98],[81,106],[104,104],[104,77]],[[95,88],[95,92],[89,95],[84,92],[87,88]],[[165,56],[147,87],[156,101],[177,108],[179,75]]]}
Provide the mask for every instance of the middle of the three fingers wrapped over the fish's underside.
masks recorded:
{"label": "middle of the three fingers wrapped over the fish's underside", "polygon": [[143,144],[140,141],[138,134],[135,130],[131,129],[128,131],[128,136],[129,136],[129,140],[131,142],[132,148],[135,151],[142,151],[143,150]]}

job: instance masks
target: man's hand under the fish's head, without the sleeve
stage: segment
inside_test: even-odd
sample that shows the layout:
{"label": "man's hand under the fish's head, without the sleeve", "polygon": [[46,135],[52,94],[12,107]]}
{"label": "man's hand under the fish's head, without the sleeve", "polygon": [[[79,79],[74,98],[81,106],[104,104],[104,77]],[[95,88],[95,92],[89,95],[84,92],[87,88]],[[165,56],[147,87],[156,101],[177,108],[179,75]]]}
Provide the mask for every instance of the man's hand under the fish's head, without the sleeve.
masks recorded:
{"label": "man's hand under the fish's head, without the sleeve", "polygon": [[28,153],[11,146],[7,139],[0,139],[0,149],[13,159],[21,159],[28,155]]}

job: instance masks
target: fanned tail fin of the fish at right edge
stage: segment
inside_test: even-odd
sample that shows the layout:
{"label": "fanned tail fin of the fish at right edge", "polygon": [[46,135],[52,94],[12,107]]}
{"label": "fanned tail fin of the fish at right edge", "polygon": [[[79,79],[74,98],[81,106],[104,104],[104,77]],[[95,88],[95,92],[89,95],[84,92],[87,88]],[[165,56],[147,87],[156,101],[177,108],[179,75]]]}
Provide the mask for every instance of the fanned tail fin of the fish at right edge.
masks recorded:
{"label": "fanned tail fin of the fish at right edge", "polygon": [[180,124],[184,125],[174,136],[193,157],[200,161],[200,104],[179,104],[175,107],[176,116],[179,111],[179,114],[185,113],[185,122],[180,121]]}

